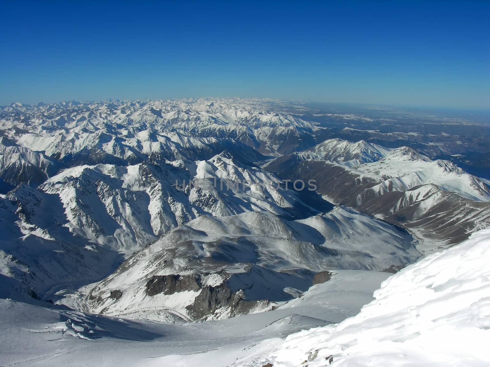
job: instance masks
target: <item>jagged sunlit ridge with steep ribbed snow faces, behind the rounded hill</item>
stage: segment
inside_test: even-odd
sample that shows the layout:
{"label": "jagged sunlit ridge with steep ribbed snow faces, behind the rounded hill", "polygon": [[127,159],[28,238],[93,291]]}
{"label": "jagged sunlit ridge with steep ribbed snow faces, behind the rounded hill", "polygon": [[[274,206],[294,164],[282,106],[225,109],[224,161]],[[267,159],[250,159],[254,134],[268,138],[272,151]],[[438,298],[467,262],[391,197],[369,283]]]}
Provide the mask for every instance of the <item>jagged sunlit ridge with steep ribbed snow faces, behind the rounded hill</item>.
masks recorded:
{"label": "jagged sunlit ridge with steep ribbed snow faces, behind the rounded hill", "polygon": [[[215,185],[214,179],[231,182]],[[234,161],[229,154],[220,154],[185,165],[181,161],[126,167],[82,165],[49,178],[40,189],[60,198],[72,232],[130,254],[202,214],[286,214],[285,209],[308,209],[293,190],[258,186],[279,181]],[[244,182],[255,184],[244,187]],[[100,210],[95,211],[96,207]]]}

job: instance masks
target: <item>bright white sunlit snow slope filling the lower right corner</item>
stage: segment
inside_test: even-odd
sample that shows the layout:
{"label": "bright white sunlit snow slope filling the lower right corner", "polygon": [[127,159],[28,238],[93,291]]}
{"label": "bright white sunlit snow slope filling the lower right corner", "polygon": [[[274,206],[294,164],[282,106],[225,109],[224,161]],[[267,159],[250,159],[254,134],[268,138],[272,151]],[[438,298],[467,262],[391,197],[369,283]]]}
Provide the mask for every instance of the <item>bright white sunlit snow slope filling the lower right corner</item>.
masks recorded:
{"label": "bright white sunlit snow slope filling the lower right corner", "polygon": [[390,277],[357,316],[236,365],[489,366],[489,256],[490,229],[480,230]]}

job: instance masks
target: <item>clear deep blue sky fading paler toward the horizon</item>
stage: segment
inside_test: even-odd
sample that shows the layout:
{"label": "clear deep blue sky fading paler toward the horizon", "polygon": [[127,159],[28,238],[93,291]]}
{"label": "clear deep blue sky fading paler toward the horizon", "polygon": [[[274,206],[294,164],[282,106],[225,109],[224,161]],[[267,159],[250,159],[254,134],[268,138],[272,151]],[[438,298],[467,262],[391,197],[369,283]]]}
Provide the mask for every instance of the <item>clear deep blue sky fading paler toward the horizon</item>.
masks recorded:
{"label": "clear deep blue sky fading paler toward the horizon", "polygon": [[490,1],[2,1],[0,104],[241,96],[490,107]]}

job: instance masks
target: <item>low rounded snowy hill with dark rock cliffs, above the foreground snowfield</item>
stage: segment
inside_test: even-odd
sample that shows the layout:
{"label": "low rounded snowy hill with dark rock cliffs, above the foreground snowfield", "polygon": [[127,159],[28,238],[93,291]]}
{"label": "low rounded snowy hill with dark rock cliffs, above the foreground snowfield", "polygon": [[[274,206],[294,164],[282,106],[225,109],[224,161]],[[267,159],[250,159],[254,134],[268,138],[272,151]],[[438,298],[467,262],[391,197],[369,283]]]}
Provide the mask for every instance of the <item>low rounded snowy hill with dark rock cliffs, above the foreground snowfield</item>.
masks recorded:
{"label": "low rounded snowy hill with dark rock cliffs, above the foreground snowfield", "polygon": [[[133,318],[225,318],[291,299],[313,272],[382,270],[418,256],[407,232],[352,209],[296,221],[267,212],[201,216],[129,258],[86,307]],[[196,313],[201,298],[209,313]]]}

